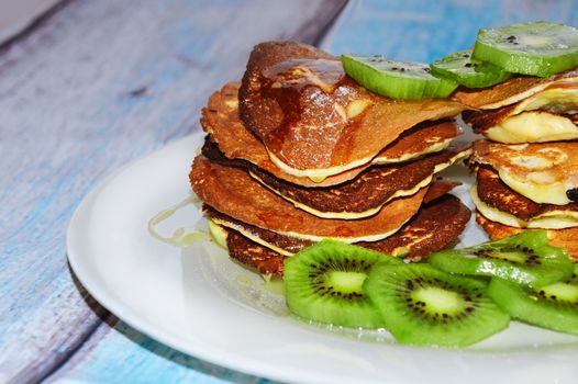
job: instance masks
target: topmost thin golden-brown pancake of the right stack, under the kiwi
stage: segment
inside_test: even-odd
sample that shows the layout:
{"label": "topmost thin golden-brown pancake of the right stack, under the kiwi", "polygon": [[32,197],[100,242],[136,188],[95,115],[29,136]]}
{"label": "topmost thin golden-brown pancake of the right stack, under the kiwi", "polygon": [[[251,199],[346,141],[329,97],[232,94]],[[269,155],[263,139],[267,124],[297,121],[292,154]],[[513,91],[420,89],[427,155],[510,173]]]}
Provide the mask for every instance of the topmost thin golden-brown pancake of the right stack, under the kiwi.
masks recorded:
{"label": "topmost thin golden-brown pancake of the right stack, under the kiwi", "polygon": [[493,110],[522,101],[544,89],[571,86],[578,81],[578,69],[547,78],[519,76],[481,90],[459,88],[453,99],[473,109]]}

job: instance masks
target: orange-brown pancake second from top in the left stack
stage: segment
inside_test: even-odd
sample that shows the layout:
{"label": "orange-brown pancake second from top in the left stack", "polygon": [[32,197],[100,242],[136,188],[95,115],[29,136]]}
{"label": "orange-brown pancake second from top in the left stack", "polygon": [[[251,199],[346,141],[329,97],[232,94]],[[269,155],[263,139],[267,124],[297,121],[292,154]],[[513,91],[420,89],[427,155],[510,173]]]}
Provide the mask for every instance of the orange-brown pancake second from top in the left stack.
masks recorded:
{"label": "orange-brown pancake second from top in the left stack", "polygon": [[270,159],[265,145],[248,131],[238,117],[238,83],[227,83],[214,92],[202,110],[201,126],[211,135],[224,155],[231,159],[244,159],[266,170],[276,178],[303,187],[329,187],[355,178],[370,163],[408,161],[420,156],[447,148],[462,134],[449,121],[426,122],[402,133],[384,148],[370,162],[314,182],[307,177],[284,172]]}

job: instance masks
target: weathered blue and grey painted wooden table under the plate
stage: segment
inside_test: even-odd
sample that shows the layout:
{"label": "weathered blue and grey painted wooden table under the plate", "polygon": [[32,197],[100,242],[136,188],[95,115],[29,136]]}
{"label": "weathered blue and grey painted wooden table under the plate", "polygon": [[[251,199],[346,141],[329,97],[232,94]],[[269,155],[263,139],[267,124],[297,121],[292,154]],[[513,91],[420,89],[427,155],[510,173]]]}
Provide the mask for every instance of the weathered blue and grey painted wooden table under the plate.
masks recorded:
{"label": "weathered blue and grey painted wooden table under the plate", "polygon": [[252,46],[429,61],[482,26],[578,25],[573,1],[65,1],[0,50],[0,383],[267,382],[180,353],[96,303],[65,231],[103,177],[199,129]]}

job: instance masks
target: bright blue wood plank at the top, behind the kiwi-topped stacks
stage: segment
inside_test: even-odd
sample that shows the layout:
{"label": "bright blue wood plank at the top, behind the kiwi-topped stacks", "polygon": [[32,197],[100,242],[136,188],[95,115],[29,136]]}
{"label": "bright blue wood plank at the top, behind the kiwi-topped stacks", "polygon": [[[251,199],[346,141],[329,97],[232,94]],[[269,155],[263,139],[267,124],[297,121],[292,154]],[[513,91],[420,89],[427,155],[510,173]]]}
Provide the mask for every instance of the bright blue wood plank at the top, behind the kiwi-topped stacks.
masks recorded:
{"label": "bright blue wood plank at the top, behind the kiwi-topped stacks", "polygon": [[354,0],[327,50],[431,63],[474,45],[480,27],[547,20],[578,26],[573,0]]}

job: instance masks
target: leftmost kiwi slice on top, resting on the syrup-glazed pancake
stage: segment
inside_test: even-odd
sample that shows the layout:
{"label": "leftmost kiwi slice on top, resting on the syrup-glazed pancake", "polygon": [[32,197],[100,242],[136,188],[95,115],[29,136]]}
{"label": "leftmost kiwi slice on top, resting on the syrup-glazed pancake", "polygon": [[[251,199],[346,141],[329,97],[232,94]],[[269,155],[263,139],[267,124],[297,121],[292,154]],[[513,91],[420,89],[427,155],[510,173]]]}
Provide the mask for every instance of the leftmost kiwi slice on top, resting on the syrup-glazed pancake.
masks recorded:
{"label": "leftmost kiwi slice on top, resting on the syrup-glazed pancake", "polygon": [[457,82],[430,74],[426,64],[393,61],[382,56],[342,55],[345,72],[363,87],[392,99],[447,98]]}

